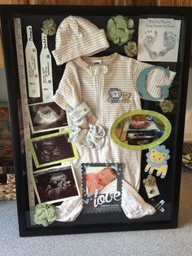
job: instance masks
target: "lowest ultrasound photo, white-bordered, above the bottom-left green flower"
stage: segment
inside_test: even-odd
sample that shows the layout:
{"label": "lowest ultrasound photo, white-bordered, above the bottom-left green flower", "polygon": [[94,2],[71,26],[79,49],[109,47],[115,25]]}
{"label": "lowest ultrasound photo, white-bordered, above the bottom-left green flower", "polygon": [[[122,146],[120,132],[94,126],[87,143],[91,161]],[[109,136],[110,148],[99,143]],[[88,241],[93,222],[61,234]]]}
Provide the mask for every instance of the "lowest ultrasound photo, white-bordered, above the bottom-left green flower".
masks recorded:
{"label": "lowest ultrasound photo, white-bordered, above the bottom-left green flower", "polygon": [[33,186],[39,203],[54,203],[68,197],[80,196],[72,166],[33,172]]}

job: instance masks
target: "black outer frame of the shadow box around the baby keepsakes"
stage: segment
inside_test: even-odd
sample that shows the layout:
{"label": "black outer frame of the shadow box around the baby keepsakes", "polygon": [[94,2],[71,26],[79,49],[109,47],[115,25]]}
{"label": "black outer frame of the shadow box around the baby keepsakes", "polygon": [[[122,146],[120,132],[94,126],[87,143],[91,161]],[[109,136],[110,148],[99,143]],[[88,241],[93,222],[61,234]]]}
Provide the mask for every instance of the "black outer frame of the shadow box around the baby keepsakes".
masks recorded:
{"label": "black outer frame of the shadow box around the baby keepsakes", "polygon": [[[15,178],[17,192],[17,210],[19,218],[20,236],[46,236],[85,232],[117,232],[160,228],[177,227],[179,210],[179,192],[181,179],[181,153],[185,123],[185,103],[187,95],[187,82],[190,60],[190,40],[192,8],[190,7],[77,7],[77,6],[1,6],[2,42],[7,73],[7,90],[11,113],[11,134],[14,147]],[[177,71],[177,81],[174,84],[176,90],[170,90],[173,98],[177,99],[177,108],[172,115],[167,117],[172,123],[172,134],[167,140],[171,150],[168,177],[164,179],[162,196],[166,199],[164,208],[166,214],[157,212],[154,215],[143,218],[126,218],[123,211],[105,214],[81,214],[76,221],[71,223],[55,222],[49,227],[34,225],[30,222],[30,210],[28,195],[28,170],[25,158],[24,145],[22,144],[22,130],[20,130],[19,113],[21,112],[18,101],[20,94],[20,74],[15,46],[14,19],[20,18],[23,24],[32,24],[40,29],[41,22],[53,18],[57,24],[68,15],[88,17],[98,27],[106,29],[107,20],[111,16],[124,15],[135,18],[173,18],[181,20],[181,34],[179,55],[177,63],[170,64]],[[136,21],[136,24],[137,24]],[[105,24],[103,24],[105,22]],[[22,28],[23,29],[23,28]],[[35,35],[34,35],[35,38]],[[136,40],[136,39],[135,39]],[[38,46],[39,47],[39,46]],[[54,49],[54,48],[53,48]],[[52,50],[52,49],[51,49]],[[37,51],[39,51],[37,49]],[[112,46],[104,54],[113,51],[122,53],[122,48]],[[99,54],[98,54],[99,56]],[[55,68],[55,67],[54,67]],[[172,67],[171,67],[172,68]],[[58,68],[55,74],[55,84],[58,86],[63,68]],[[142,106],[150,110],[159,111],[159,106],[154,102],[147,103],[142,100]],[[145,151],[146,153],[146,151]],[[145,155],[142,155],[142,168],[145,165]],[[142,179],[146,178],[142,174]],[[28,191],[29,190],[29,191]],[[139,191],[147,201],[144,188]]]}

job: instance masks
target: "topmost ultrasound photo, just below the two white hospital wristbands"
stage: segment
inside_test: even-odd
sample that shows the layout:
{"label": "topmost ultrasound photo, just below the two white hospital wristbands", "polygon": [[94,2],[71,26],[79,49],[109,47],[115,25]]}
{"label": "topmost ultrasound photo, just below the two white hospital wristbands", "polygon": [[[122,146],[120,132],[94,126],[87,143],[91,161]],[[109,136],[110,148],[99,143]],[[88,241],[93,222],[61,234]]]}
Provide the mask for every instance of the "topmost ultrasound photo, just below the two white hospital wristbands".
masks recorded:
{"label": "topmost ultrasound photo, just below the two white hospital wristbands", "polygon": [[28,111],[33,133],[58,130],[68,126],[66,112],[55,102],[29,104]]}

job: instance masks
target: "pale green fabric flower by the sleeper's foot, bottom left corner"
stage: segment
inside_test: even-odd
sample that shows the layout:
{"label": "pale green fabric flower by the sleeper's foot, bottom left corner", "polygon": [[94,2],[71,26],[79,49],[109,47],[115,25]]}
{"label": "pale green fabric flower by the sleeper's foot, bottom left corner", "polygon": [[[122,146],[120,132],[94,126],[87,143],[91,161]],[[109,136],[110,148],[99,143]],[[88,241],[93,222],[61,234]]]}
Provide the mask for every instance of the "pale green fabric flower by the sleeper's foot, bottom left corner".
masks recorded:
{"label": "pale green fabric flower by the sleeper's foot, bottom left corner", "polygon": [[49,226],[56,219],[55,205],[38,204],[35,206],[34,222],[43,227]]}

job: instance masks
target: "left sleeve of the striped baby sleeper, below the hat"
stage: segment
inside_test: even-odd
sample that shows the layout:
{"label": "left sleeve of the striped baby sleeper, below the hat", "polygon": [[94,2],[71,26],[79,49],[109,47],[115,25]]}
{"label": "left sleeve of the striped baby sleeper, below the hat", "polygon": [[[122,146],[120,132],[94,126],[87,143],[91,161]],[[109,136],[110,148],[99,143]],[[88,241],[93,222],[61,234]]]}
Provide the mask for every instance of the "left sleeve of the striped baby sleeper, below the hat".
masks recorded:
{"label": "left sleeve of the striped baby sleeper, below the hat", "polygon": [[68,111],[81,103],[81,85],[76,73],[76,67],[69,61],[66,64],[59,88],[54,95],[55,103]]}

